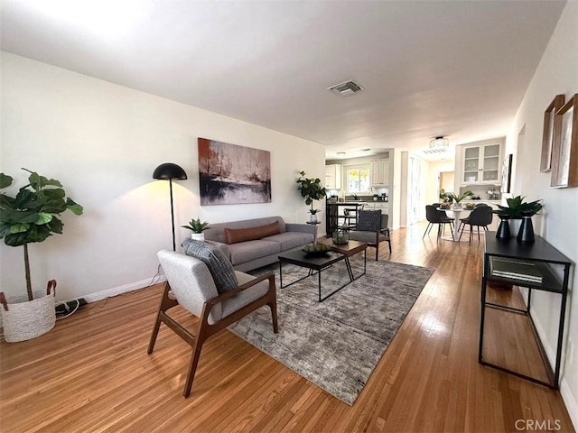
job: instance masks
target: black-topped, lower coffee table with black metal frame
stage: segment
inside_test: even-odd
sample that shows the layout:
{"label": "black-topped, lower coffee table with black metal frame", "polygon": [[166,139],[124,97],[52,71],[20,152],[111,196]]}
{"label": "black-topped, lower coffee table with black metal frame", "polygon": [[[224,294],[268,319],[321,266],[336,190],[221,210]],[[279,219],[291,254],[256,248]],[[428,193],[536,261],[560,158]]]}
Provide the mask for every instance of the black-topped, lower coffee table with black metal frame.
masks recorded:
{"label": "black-topped, lower coffee table with black metal frame", "polygon": [[[284,289],[285,287],[289,287],[295,282],[303,281],[306,278],[311,277],[312,275],[317,274],[317,287],[319,290],[319,302],[322,302],[325,299],[328,299],[330,296],[334,295],[345,286],[350,284],[353,281],[352,272],[350,270],[349,261],[347,260],[348,256],[342,253],[336,252],[328,252],[321,256],[312,256],[307,255],[301,250],[290,251],[287,253],[283,253],[279,255],[279,284],[280,289]],[[345,268],[347,269],[348,276],[350,277],[350,281],[347,281],[345,284],[340,286],[340,288],[331,291],[331,293],[327,296],[322,297],[322,271],[330,268],[333,264],[339,262],[345,262]],[[299,280],[290,282],[287,285],[283,285],[283,263],[294,264],[296,266],[300,266],[302,268],[309,269],[309,273],[304,277],[300,278]]]}

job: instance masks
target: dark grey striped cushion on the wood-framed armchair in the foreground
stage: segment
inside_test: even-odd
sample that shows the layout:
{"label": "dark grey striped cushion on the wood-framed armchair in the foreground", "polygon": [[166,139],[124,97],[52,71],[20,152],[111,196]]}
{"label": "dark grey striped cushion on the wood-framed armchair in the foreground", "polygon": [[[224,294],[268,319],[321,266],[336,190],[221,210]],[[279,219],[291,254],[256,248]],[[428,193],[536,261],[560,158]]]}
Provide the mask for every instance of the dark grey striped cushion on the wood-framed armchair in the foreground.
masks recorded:
{"label": "dark grey striped cushion on the wood-framed armchair in the foreground", "polygon": [[191,255],[207,265],[219,294],[238,287],[233,265],[219,248],[191,238],[185,239],[182,247],[185,254]]}

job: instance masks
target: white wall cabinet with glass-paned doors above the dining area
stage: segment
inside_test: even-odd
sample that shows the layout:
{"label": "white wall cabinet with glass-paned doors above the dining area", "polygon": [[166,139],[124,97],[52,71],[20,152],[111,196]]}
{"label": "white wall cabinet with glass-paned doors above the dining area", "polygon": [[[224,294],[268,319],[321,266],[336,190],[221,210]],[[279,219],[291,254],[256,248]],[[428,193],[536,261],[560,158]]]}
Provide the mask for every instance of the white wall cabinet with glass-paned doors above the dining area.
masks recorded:
{"label": "white wall cabinet with glass-paned doors above the dining area", "polygon": [[502,144],[499,142],[459,146],[461,152],[461,185],[495,184],[501,176]]}

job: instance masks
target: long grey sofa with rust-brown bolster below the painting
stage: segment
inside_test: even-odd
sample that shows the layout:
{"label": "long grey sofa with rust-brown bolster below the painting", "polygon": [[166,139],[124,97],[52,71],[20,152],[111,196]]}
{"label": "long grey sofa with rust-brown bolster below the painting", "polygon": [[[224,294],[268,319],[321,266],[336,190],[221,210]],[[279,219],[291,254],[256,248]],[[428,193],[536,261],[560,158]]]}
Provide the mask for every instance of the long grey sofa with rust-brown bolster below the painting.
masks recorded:
{"label": "long grey sofa with rust-brown bolster below the painting", "polygon": [[[262,236],[261,228],[265,226],[267,228],[263,228]],[[203,232],[205,242],[217,246],[230,259],[235,270],[240,272],[275,263],[279,253],[312,244],[316,229],[313,225],[285,223],[282,217],[245,219],[210,224],[208,227],[210,228]],[[272,227],[275,228],[274,232],[277,232],[274,235],[271,235]],[[248,239],[242,240],[244,238]],[[231,242],[238,239],[241,239],[241,242]]]}

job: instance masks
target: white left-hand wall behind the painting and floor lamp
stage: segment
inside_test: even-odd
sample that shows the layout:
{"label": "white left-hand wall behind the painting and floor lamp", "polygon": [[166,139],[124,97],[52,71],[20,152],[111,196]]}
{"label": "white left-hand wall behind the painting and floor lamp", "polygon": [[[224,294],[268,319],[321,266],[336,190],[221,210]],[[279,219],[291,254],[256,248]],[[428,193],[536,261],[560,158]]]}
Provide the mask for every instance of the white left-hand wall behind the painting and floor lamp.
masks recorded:
{"label": "white left-hand wall behind the painting and floor lamp", "polygon": [[[169,185],[152,179],[163,162],[189,177],[173,182],[177,244],[191,217],[308,220],[295,180],[300,170],[323,178],[322,145],[13,54],[1,60],[0,169],[17,186],[21,167],[61,180],[84,206],[80,217],[63,214],[62,235],[29,247],[33,284],[56,279],[59,299],[98,299],[151,280],[156,252],[172,248]],[[270,151],[272,202],[200,207],[198,137]],[[1,289],[23,292],[23,248],[2,242],[0,254]]]}

